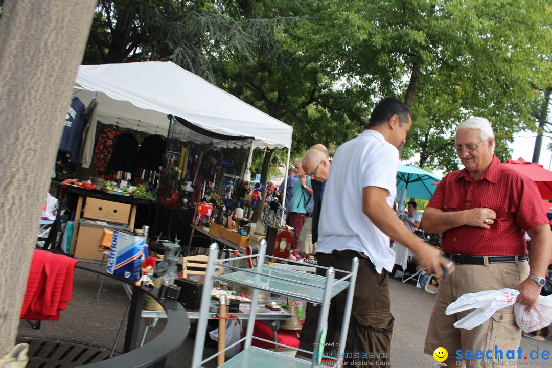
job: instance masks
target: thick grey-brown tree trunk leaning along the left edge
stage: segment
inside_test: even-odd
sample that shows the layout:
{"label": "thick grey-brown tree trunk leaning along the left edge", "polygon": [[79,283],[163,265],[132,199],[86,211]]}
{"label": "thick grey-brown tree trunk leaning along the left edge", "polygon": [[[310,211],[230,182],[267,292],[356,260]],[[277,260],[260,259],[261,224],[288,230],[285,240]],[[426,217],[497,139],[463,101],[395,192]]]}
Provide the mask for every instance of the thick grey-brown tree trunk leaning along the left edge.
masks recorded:
{"label": "thick grey-brown tree trunk leaning along the left edge", "polygon": [[0,21],[0,356],[15,344],[41,208],[95,0],[12,0]]}

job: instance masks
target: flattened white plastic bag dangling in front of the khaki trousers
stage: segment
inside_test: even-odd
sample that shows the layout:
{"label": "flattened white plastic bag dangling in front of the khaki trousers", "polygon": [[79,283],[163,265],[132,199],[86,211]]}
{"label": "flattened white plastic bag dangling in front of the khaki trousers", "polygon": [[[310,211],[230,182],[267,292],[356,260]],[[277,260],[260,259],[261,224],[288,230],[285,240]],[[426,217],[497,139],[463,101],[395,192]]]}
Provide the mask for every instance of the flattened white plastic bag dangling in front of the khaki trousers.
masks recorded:
{"label": "flattened white plastic bag dangling in front of the khaki trousers", "polygon": [[491,318],[499,309],[514,304],[518,295],[519,290],[516,289],[472,292],[470,294],[464,294],[450,303],[445,313],[454,314],[476,308],[475,311],[472,311],[467,316],[460,319],[460,321],[454,323],[454,327],[456,328],[471,330],[487,321],[487,319]]}

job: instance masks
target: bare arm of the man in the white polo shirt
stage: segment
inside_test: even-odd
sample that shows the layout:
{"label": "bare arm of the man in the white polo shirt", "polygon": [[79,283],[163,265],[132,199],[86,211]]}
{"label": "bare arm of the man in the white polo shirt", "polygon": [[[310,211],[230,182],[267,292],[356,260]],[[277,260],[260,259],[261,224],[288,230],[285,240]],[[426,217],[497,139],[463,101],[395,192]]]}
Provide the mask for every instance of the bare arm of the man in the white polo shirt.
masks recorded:
{"label": "bare arm of the man in the white polo shirt", "polygon": [[404,223],[397,218],[395,211],[386,202],[387,189],[378,186],[367,186],[362,192],[362,210],[366,216],[381,231],[388,234],[405,247],[412,249],[416,262],[427,269],[428,273],[434,273],[440,279],[443,276],[443,268],[448,268],[452,273],[453,266],[449,261],[440,257],[437,248],[430,246],[408,230]]}

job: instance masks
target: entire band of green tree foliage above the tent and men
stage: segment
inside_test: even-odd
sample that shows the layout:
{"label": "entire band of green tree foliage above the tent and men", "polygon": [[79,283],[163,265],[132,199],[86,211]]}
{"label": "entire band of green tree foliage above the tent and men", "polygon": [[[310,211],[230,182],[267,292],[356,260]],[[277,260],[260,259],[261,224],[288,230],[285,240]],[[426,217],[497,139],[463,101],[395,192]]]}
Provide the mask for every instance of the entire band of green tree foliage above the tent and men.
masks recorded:
{"label": "entire band of green tree foliage above the tent and men", "polygon": [[403,158],[453,170],[461,120],[489,118],[500,159],[514,133],[543,120],[551,10],[546,0],[101,0],[84,62],[176,62],[293,125],[292,157],[337,147],[396,97],[415,123]]}

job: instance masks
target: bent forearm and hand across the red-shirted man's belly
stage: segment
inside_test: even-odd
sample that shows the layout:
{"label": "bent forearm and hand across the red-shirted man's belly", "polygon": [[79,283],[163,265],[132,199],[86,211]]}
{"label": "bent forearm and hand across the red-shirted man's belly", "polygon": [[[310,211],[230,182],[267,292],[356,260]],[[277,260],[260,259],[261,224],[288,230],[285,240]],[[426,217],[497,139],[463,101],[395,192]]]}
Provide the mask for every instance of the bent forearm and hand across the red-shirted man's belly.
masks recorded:
{"label": "bent forearm and hand across the red-shirted man's belly", "polygon": [[[489,225],[495,222],[495,218],[496,212],[485,208],[443,212],[433,207],[426,207],[423,211],[423,230],[438,233],[463,225],[490,229]],[[488,225],[484,223],[486,219]]]}

